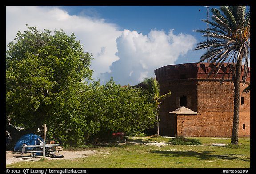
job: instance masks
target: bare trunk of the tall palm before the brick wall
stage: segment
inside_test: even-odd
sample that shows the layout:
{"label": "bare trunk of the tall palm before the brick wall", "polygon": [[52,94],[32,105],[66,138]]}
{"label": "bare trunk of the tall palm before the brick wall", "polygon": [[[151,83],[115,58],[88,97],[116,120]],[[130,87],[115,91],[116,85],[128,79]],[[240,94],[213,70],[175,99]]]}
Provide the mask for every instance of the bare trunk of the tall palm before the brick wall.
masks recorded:
{"label": "bare trunk of the tall palm before the brick wall", "polygon": [[240,108],[240,78],[241,78],[242,54],[236,62],[236,75],[234,79],[234,118],[232,128],[231,144],[238,145],[238,130],[239,130],[239,108]]}

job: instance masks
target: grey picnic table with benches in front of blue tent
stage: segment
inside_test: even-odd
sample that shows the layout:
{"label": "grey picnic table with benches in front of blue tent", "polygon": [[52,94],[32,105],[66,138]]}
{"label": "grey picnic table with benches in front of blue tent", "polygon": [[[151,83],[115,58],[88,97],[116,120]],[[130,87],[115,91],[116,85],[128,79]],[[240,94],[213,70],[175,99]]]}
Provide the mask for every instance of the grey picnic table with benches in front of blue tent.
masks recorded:
{"label": "grey picnic table with benches in front of blue tent", "polygon": [[[54,148],[60,146],[60,144],[45,144],[45,152],[49,153],[49,152],[58,152],[60,155],[59,151],[63,150],[61,148]],[[32,158],[33,156],[36,157],[36,153],[43,153],[43,145],[39,144],[39,145],[22,145],[22,154],[21,156],[23,156],[24,153],[31,153],[30,157]],[[30,149],[26,149],[26,148],[30,148]]]}

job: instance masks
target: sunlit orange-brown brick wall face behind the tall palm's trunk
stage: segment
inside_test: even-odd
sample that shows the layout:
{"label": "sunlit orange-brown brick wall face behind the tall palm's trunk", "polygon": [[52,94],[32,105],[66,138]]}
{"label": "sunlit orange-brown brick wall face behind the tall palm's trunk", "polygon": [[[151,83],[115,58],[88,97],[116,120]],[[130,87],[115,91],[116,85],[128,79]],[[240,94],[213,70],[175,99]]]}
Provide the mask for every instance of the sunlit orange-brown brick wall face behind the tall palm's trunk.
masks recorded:
{"label": "sunlit orange-brown brick wall face behind the tall palm's trunk", "polygon": [[[247,86],[247,85],[246,85]],[[244,104],[240,105],[239,136],[250,135],[250,96],[243,94],[245,87],[241,84],[241,96]],[[234,111],[234,85],[219,81],[200,81],[198,85],[198,122],[202,128],[201,136],[232,135]],[[243,125],[245,124],[245,129]],[[191,125],[192,126],[192,125]]]}

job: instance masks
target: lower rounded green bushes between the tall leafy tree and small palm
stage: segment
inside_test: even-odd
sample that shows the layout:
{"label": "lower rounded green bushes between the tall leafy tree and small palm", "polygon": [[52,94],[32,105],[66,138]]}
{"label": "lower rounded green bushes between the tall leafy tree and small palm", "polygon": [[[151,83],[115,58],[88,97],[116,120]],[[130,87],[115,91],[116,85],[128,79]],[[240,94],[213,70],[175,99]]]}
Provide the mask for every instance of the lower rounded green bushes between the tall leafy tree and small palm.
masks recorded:
{"label": "lower rounded green bushes between the tall leafy tree and small palm", "polygon": [[[99,81],[88,85],[78,103],[68,107],[57,109],[67,117],[52,117],[51,135],[69,145],[84,144],[92,138],[108,139],[113,132],[141,135],[156,121],[152,102],[141,89],[121,87],[113,80],[106,85]],[[69,114],[69,110],[74,112]]]}

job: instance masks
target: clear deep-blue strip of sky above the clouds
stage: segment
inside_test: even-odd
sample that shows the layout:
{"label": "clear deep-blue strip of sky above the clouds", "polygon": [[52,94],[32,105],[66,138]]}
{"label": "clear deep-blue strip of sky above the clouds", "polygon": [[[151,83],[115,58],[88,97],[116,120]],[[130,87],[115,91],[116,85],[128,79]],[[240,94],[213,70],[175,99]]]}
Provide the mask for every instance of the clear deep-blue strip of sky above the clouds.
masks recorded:
{"label": "clear deep-blue strip of sky above the clouds", "polygon": [[[215,6],[218,8],[218,6]],[[177,32],[191,33],[192,27],[205,27],[203,6],[63,6],[70,15],[87,15],[116,23],[121,30],[129,29],[148,34],[151,29],[168,31],[173,26]]]}

